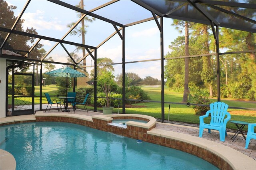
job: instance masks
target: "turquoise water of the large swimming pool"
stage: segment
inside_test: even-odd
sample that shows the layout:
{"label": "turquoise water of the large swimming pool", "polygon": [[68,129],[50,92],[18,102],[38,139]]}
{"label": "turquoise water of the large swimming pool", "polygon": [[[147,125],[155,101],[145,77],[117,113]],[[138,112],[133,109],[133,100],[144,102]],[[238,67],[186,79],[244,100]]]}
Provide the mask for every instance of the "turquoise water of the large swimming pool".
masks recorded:
{"label": "turquoise water of the large swimming pool", "polygon": [[0,148],[14,156],[17,170],[218,169],[179,150],[71,123],[24,123],[0,130]]}

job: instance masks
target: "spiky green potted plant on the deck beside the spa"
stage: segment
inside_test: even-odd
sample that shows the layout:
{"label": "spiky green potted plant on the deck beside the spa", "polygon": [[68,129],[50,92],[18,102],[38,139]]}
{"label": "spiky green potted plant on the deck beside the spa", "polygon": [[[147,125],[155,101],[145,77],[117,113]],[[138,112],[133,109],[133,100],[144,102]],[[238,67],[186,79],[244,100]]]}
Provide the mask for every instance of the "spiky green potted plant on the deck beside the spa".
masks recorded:
{"label": "spiky green potted plant on the deck beside the spa", "polygon": [[102,90],[106,94],[106,107],[102,107],[104,115],[112,114],[113,112],[114,107],[110,107],[110,93],[112,87],[116,84],[114,77],[114,73],[111,70],[103,70],[97,76],[98,85],[102,87]]}

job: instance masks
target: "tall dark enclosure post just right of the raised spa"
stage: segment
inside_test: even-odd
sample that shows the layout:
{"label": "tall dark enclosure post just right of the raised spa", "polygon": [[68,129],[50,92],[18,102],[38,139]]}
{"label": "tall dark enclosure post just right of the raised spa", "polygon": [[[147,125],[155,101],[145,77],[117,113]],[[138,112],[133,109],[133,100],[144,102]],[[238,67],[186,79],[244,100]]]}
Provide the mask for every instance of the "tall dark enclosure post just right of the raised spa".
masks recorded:
{"label": "tall dark enclosure post just right of the raised spa", "polygon": [[160,49],[161,49],[161,113],[164,122],[164,18],[160,18]]}

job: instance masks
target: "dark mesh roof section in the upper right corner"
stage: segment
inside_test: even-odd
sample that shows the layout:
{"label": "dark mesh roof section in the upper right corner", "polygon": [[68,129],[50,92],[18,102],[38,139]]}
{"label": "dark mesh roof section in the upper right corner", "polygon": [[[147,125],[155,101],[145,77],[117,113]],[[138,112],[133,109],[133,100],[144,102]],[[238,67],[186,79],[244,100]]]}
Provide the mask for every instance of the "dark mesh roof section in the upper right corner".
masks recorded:
{"label": "dark mesh roof section in the upper right corner", "polygon": [[[216,7],[223,8],[224,10],[228,10],[230,12],[234,12],[235,14],[239,14],[246,18],[250,18],[254,20],[252,22],[248,22],[244,19],[238,18],[232,15],[231,13],[227,14],[225,12],[221,12],[221,9],[214,9],[214,6],[210,4],[210,2],[209,4],[195,3],[195,6],[200,6],[199,9],[203,9],[202,12],[204,14],[199,12],[197,8],[195,8],[192,4],[189,4],[187,2],[173,2],[164,0],[142,0],[142,2],[143,4],[146,4],[147,8],[151,8],[155,10],[155,12],[167,14],[164,17],[185,20],[189,22],[196,22],[200,24],[210,24],[208,18],[214,18],[216,22],[220,23],[219,26],[237,30],[256,32],[256,24],[254,24],[256,19],[255,9],[234,7],[242,6],[243,4],[248,3],[248,1],[246,0],[242,3],[233,1],[235,4],[229,4],[228,2],[218,1],[218,4],[223,3],[223,6]],[[256,1],[250,1],[250,4],[252,5],[255,3]],[[183,4],[184,6],[179,8],[181,4]],[[212,6],[212,8],[210,6]],[[177,8],[177,10],[175,10],[175,8]],[[205,15],[208,16],[208,18]]]}

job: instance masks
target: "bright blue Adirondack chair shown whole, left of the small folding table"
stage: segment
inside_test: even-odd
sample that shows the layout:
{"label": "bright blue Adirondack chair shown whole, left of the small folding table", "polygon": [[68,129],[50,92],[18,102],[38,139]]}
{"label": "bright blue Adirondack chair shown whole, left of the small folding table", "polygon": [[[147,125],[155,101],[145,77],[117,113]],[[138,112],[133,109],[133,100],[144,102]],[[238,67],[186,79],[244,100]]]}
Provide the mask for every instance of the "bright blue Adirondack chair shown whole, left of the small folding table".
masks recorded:
{"label": "bright blue Adirondack chair shown whole, left of the small folding table", "polygon": [[[204,128],[208,128],[208,133],[211,133],[211,129],[218,130],[220,132],[220,141],[225,141],[225,136],[227,136],[226,125],[228,121],[231,119],[230,113],[228,113],[227,110],[228,105],[226,103],[211,103],[210,110],[207,111],[204,116],[199,117],[199,137],[202,137]],[[209,117],[210,113],[212,118],[211,122],[210,124],[206,124],[204,123],[204,118]]]}

